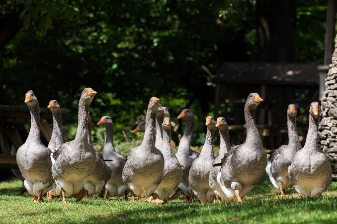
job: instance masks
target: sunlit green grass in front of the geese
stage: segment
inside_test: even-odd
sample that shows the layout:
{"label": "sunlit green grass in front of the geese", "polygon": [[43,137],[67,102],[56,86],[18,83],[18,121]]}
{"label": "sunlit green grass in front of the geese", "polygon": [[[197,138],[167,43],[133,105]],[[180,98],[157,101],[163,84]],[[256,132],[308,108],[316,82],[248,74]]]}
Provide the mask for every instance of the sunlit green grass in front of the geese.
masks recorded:
{"label": "sunlit green grass in front of the geese", "polygon": [[[294,189],[285,197],[271,187],[266,176],[237,202],[200,205],[174,199],[165,205],[142,201],[91,198],[63,205],[57,200],[32,203],[18,196],[21,182],[0,183],[0,223],[336,223],[337,182],[321,198],[301,198]],[[46,198],[45,198],[46,200]]]}

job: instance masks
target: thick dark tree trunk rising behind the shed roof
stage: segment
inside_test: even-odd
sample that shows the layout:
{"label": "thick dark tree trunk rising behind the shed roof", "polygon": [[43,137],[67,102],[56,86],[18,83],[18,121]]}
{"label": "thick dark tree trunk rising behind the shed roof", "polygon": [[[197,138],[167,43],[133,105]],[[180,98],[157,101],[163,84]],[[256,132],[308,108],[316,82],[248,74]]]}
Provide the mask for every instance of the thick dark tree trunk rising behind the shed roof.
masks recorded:
{"label": "thick dark tree trunk rising behind the shed roof", "polygon": [[295,56],[295,0],[256,0],[258,59],[292,62]]}

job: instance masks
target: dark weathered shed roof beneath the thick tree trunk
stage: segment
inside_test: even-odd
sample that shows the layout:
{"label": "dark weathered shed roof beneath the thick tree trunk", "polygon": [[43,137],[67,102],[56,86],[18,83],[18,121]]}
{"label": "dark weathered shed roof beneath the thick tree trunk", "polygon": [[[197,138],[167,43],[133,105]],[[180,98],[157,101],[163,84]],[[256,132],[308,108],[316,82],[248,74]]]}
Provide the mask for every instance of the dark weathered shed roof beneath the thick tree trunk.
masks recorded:
{"label": "dark weathered shed roof beneath the thick tree trunk", "polygon": [[214,82],[318,86],[319,65],[224,62],[217,71]]}

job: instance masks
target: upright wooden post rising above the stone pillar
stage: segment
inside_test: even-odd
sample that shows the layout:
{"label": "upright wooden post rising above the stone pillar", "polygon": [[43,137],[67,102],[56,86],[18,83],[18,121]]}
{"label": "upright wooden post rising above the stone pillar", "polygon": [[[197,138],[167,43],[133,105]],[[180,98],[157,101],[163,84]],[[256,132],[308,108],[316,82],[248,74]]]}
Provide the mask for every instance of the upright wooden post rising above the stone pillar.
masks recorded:
{"label": "upright wooden post rising above the stone pillar", "polygon": [[327,0],[327,23],[325,32],[324,64],[331,63],[331,56],[335,48],[336,0]]}

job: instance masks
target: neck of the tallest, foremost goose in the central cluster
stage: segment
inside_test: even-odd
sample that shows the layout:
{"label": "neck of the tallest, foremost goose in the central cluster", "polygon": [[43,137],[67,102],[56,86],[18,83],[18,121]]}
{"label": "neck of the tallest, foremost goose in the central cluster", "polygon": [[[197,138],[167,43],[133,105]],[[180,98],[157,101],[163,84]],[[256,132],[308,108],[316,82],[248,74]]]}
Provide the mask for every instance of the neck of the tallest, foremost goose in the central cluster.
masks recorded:
{"label": "neck of the tallest, foremost goose in the central cluster", "polygon": [[145,132],[142,141],[142,148],[153,151],[155,149],[155,120],[156,114],[152,113],[150,109],[146,112]]}

